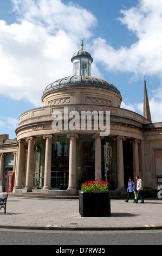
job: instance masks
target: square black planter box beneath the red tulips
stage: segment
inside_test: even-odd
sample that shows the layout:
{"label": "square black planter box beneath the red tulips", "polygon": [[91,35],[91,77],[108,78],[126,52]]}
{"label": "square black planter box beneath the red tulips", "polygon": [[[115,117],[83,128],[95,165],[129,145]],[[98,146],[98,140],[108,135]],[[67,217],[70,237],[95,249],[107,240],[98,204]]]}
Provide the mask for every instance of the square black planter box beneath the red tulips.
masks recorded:
{"label": "square black planter box beneath the red tulips", "polygon": [[79,192],[79,213],[81,217],[111,216],[109,192]]}

